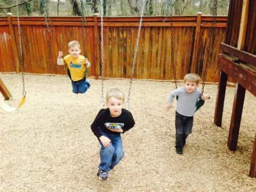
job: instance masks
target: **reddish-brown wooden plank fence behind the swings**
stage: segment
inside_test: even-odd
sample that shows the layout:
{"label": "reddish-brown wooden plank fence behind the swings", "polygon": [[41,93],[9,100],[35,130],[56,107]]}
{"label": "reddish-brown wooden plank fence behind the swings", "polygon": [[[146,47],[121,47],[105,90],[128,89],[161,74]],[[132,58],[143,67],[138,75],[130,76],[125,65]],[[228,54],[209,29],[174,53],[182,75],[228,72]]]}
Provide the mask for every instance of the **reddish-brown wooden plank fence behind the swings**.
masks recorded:
{"label": "reddish-brown wooden plank fence behind the swings", "polygon": [[[130,78],[137,39],[138,17],[104,18],[104,76]],[[165,19],[165,21],[163,21]],[[66,74],[56,64],[58,49],[68,53],[69,41],[81,42],[82,54],[91,61],[89,76],[100,76],[100,17],[51,17],[46,25],[43,17],[21,17],[21,39],[24,72]],[[217,18],[217,36],[209,37],[212,17],[201,14],[188,17],[144,17],[134,78],[173,79],[170,65],[171,26],[174,33],[174,65],[177,78],[186,73],[202,74],[208,62],[206,81],[218,82],[219,44],[225,39],[227,17]],[[49,30],[47,30],[49,29]],[[213,57],[208,58],[207,41],[211,41]],[[0,72],[19,72],[21,66],[17,17],[0,18]],[[20,59],[18,59],[20,58]]]}

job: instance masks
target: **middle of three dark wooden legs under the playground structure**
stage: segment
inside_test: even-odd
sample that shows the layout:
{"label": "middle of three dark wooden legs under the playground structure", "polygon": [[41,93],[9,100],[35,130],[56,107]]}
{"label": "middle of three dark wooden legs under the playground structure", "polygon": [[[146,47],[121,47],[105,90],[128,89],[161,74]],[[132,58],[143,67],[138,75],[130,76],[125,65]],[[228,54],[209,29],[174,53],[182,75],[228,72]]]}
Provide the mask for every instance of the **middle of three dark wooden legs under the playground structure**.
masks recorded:
{"label": "middle of three dark wooden legs under the playground structure", "polygon": [[228,135],[228,147],[233,151],[237,148],[237,140],[244,106],[244,95],[244,87],[237,83]]}

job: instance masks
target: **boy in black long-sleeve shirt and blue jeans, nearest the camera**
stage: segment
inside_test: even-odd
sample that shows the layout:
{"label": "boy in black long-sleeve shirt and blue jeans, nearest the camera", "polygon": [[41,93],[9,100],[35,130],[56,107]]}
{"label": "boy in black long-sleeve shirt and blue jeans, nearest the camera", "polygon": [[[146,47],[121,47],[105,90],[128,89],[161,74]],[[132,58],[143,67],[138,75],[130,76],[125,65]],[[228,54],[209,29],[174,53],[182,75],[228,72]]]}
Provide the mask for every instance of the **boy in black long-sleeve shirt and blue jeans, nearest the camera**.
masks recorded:
{"label": "boy in black long-sleeve shirt and blue jeans, nearest the camera", "polygon": [[120,133],[131,129],[135,122],[130,111],[123,109],[124,93],[119,89],[111,89],[106,95],[107,109],[101,109],[95,117],[91,129],[98,138],[100,164],[97,175],[107,180],[108,172],[124,157]]}

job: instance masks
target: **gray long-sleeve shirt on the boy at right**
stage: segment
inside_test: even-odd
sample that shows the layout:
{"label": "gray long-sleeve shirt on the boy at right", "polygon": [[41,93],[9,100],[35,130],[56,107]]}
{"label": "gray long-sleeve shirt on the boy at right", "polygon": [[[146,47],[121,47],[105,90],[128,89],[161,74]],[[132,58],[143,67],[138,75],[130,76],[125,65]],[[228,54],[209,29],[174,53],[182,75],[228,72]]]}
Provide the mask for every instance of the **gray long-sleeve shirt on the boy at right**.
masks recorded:
{"label": "gray long-sleeve shirt on the boy at right", "polygon": [[176,111],[184,116],[193,116],[196,111],[196,101],[201,97],[201,92],[196,89],[194,92],[188,93],[185,90],[185,87],[180,87],[171,92],[169,95],[169,102],[173,102],[173,98],[177,95],[179,96],[179,99],[177,101]]}

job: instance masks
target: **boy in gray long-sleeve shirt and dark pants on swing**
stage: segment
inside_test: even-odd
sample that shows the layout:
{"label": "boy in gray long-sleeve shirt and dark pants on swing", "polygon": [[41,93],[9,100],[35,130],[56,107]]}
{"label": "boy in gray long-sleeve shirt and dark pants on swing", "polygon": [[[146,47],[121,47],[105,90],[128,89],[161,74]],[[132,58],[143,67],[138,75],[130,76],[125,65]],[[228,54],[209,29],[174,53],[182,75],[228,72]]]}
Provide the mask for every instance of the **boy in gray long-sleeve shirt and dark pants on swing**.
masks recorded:
{"label": "boy in gray long-sleeve shirt and dark pants on swing", "polygon": [[183,154],[182,148],[186,144],[186,138],[191,133],[197,100],[200,98],[202,100],[210,99],[209,95],[203,95],[197,89],[200,79],[197,74],[185,75],[184,86],[172,91],[169,97],[170,103],[166,107],[167,110],[172,108],[173,99],[178,96],[175,115],[175,148],[177,154]]}

